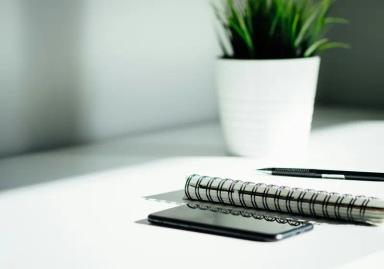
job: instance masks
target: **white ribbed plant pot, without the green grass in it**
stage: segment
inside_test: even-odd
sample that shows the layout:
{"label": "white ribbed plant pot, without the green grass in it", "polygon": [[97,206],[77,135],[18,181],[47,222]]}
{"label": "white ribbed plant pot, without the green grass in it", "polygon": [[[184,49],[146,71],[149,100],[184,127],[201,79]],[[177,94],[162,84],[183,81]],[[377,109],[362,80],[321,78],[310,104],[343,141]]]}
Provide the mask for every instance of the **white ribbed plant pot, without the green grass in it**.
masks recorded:
{"label": "white ribbed plant pot, without the green grass in it", "polygon": [[228,151],[248,157],[304,157],[320,58],[218,59],[216,83]]}

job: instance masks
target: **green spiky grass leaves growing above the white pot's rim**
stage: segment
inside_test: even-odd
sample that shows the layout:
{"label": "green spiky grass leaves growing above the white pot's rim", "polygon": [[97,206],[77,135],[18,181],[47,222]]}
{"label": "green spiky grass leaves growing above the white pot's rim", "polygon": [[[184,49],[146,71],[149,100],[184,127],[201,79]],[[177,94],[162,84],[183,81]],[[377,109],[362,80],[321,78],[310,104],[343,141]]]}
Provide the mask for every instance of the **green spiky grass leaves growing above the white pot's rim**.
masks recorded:
{"label": "green spiky grass leaves growing above the white pot's rim", "polygon": [[223,31],[223,58],[312,57],[348,44],[327,37],[329,27],[345,24],[330,16],[335,0],[219,0],[212,3]]}

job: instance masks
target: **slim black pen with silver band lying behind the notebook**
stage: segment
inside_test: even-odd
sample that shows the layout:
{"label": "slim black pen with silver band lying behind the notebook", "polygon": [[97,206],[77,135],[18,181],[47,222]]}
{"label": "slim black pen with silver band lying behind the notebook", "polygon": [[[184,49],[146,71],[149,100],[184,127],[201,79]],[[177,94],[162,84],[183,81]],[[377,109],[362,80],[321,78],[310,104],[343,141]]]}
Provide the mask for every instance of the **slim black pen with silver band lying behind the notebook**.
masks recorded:
{"label": "slim black pen with silver band lying behind the notebook", "polygon": [[274,176],[327,178],[342,180],[384,181],[384,173],[357,172],[341,170],[323,170],[306,168],[261,168],[257,169],[263,173]]}

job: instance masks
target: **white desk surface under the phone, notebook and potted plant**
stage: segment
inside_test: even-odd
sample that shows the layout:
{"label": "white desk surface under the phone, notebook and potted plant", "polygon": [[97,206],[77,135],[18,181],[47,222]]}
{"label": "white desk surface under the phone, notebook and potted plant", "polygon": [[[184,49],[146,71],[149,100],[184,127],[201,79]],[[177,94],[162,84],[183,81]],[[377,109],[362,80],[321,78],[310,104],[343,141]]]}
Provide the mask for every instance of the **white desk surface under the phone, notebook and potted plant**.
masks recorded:
{"label": "white desk surface under the phone, notebook and potted plant", "polygon": [[[384,113],[317,110],[306,163],[383,171],[383,137]],[[0,268],[382,263],[383,227],[320,225],[259,243],[136,223],[171,206],[142,196],[181,189],[186,174],[250,171],[263,162],[220,156],[223,141],[213,122],[0,160]],[[384,184],[369,188],[384,193]]]}

